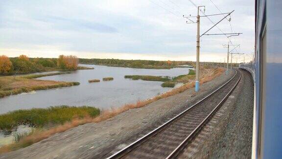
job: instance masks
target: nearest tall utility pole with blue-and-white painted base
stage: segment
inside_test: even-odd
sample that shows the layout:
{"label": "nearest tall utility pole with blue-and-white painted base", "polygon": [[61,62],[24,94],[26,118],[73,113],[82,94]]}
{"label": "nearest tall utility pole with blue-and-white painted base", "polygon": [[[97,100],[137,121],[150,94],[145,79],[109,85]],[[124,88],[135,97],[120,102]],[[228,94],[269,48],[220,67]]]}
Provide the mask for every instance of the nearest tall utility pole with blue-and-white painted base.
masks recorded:
{"label": "nearest tall utility pole with blue-and-white painted base", "polygon": [[196,81],[195,81],[195,91],[199,91],[199,65],[200,64],[200,15],[198,7],[198,16],[197,16],[197,57],[196,57]]}

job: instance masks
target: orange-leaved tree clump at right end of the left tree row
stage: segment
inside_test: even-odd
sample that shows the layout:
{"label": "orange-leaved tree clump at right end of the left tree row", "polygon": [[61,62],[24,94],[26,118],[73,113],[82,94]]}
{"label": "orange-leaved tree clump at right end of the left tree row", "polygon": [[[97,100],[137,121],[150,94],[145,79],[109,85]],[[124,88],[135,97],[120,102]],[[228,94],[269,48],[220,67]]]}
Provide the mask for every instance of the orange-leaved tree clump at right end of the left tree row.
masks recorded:
{"label": "orange-leaved tree clump at right end of the left tree row", "polygon": [[78,58],[74,55],[59,55],[58,67],[61,69],[76,70]]}

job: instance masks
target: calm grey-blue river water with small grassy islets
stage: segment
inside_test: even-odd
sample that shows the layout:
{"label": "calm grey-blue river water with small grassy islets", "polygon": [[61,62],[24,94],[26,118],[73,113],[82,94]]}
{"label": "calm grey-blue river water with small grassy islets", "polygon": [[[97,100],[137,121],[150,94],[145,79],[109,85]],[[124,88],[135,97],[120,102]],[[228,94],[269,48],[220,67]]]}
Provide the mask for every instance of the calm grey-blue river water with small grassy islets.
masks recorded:
{"label": "calm grey-blue river water with small grassy islets", "polygon": [[[124,79],[125,75],[153,75],[175,77],[188,74],[189,68],[170,70],[134,69],[123,67],[94,67],[94,70],[78,70],[72,74],[42,77],[38,79],[58,81],[78,81],[80,85],[30,93],[12,95],[0,99],[0,113],[16,109],[29,109],[47,106],[95,106],[101,109],[135,103],[138,100],[152,98],[171,90],[163,88],[162,82]],[[50,72],[49,72],[50,73]],[[104,77],[113,77],[112,81],[102,81]],[[88,79],[100,79],[101,82],[88,83]]]}

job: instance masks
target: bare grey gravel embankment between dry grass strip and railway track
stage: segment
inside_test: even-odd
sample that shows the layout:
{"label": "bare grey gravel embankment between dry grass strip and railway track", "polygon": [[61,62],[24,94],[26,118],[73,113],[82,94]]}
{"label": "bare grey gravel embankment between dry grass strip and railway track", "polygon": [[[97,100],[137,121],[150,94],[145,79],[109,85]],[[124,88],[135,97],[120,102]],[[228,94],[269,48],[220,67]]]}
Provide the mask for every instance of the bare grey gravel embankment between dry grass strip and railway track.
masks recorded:
{"label": "bare grey gravel embankment between dry grass strip and railway track", "polygon": [[1,154],[8,158],[106,158],[204,98],[234,75],[219,77],[137,109],[129,109],[108,120],[89,123],[56,133],[26,148]]}

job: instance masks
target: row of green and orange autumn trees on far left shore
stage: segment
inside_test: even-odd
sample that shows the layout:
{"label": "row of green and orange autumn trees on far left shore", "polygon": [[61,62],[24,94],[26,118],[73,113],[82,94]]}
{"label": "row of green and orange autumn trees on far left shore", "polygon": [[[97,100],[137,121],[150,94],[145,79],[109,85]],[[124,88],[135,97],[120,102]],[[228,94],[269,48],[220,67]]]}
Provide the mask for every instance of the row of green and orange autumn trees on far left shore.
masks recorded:
{"label": "row of green and orange autumn trees on far left shore", "polygon": [[59,58],[29,58],[26,55],[7,57],[0,55],[0,74],[24,74],[48,70],[76,70],[78,58],[60,55]]}

